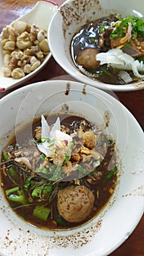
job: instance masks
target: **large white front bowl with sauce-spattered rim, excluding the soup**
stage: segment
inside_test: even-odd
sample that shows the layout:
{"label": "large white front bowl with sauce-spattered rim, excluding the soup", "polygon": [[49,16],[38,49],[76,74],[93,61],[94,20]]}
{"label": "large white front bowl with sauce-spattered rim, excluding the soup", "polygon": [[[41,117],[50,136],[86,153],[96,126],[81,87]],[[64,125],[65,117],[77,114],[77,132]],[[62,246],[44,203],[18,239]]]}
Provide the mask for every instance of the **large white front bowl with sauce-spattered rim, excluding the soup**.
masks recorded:
{"label": "large white front bowl with sauce-spattered rim, excluding the soup", "polygon": [[105,132],[113,135],[118,147],[118,186],[97,217],[81,227],[55,232],[23,222],[0,190],[1,256],[109,255],[129,237],[143,215],[143,130],[118,99],[102,90],[83,83],[49,80],[7,94],[0,101],[0,152],[24,124],[42,113],[61,112],[64,105],[99,127],[108,116]]}

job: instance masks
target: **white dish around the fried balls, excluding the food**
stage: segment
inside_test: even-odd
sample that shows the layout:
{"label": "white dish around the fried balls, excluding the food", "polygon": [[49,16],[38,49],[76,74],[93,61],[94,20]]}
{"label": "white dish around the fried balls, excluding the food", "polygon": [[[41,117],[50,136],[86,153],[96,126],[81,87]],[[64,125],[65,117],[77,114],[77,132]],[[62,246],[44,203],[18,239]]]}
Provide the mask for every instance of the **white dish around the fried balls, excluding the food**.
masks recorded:
{"label": "white dish around the fried balls, excluding the food", "polygon": [[[40,29],[45,29],[47,31],[50,20],[57,9],[58,9],[58,6],[53,1],[48,1],[48,0],[37,1],[37,4],[34,6],[34,8],[31,11],[27,12],[25,15],[21,16],[17,20],[26,21],[31,25],[34,23],[37,26],[39,26]],[[1,33],[0,41],[2,38],[3,38],[3,35]],[[42,62],[42,64],[33,72],[29,73],[23,78],[20,78],[20,79],[5,78],[1,69],[1,67],[4,67],[4,64],[3,64],[4,56],[2,54],[2,48],[0,44],[0,80],[1,80],[0,91],[6,91],[7,89],[11,89],[15,86],[18,86],[18,84],[24,83],[26,82],[26,80],[31,79],[34,75],[37,74],[37,72],[39,72],[43,67],[45,67],[45,64],[48,63],[50,57],[51,57],[51,53],[48,53],[48,55],[45,56],[45,59]]]}

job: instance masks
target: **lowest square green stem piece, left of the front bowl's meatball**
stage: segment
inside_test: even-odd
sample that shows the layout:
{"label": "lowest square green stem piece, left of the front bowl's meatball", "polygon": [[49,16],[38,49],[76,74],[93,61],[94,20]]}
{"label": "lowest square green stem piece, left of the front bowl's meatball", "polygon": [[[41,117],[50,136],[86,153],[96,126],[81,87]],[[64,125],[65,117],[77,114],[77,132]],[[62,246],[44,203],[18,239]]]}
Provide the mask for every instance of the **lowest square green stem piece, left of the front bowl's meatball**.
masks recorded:
{"label": "lowest square green stem piece, left of the front bowl's meatball", "polygon": [[33,211],[33,216],[46,221],[48,219],[48,215],[50,214],[50,208],[45,206],[36,206]]}

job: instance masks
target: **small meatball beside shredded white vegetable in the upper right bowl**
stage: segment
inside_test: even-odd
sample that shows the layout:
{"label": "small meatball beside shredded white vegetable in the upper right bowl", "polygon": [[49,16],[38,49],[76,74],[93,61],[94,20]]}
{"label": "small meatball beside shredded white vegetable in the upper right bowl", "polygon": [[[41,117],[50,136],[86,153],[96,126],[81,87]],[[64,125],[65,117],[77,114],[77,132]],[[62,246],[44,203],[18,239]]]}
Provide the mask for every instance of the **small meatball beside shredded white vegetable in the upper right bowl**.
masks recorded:
{"label": "small meatball beside shredded white vegetable in the upper right bowl", "polygon": [[97,53],[99,53],[99,50],[94,48],[81,50],[77,56],[77,64],[88,70],[96,69],[99,66],[99,61],[96,61]]}

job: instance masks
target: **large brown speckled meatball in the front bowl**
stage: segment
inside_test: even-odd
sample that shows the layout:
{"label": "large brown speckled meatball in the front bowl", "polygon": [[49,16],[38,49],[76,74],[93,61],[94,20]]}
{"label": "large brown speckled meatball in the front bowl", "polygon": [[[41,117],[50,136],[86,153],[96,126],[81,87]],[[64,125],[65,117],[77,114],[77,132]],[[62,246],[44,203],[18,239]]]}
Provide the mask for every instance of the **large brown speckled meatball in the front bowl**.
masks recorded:
{"label": "large brown speckled meatball in the front bowl", "polygon": [[94,194],[85,186],[69,186],[58,191],[58,213],[67,222],[82,222],[94,207]]}

